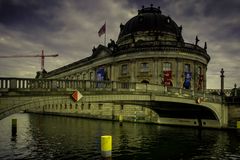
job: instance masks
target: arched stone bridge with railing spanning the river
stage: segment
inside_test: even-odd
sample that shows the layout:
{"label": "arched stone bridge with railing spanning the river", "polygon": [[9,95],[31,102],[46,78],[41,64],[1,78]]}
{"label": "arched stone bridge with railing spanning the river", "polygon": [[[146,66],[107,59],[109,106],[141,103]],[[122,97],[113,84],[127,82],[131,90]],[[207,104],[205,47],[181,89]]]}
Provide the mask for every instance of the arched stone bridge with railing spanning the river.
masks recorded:
{"label": "arched stone bridge with railing spanning the river", "polygon": [[[75,90],[83,95],[77,102],[72,99]],[[0,119],[36,107],[77,108],[84,103],[141,106],[159,117],[195,119],[196,126],[206,120],[208,127],[226,128],[229,122],[222,97],[207,91],[116,81],[0,78]]]}

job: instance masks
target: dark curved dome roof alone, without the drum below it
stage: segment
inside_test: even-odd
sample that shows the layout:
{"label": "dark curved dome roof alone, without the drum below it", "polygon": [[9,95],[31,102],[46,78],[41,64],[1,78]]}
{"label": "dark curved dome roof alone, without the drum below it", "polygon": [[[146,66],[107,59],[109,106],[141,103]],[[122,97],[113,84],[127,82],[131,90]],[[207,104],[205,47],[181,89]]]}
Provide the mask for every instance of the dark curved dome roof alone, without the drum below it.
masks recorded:
{"label": "dark curved dome roof alone, without the drum below it", "polygon": [[178,27],[169,16],[162,15],[160,7],[155,8],[152,5],[147,8],[143,6],[137,16],[131,18],[125,25],[121,24],[120,28],[118,38],[139,31],[167,32],[182,38],[182,27]]}

